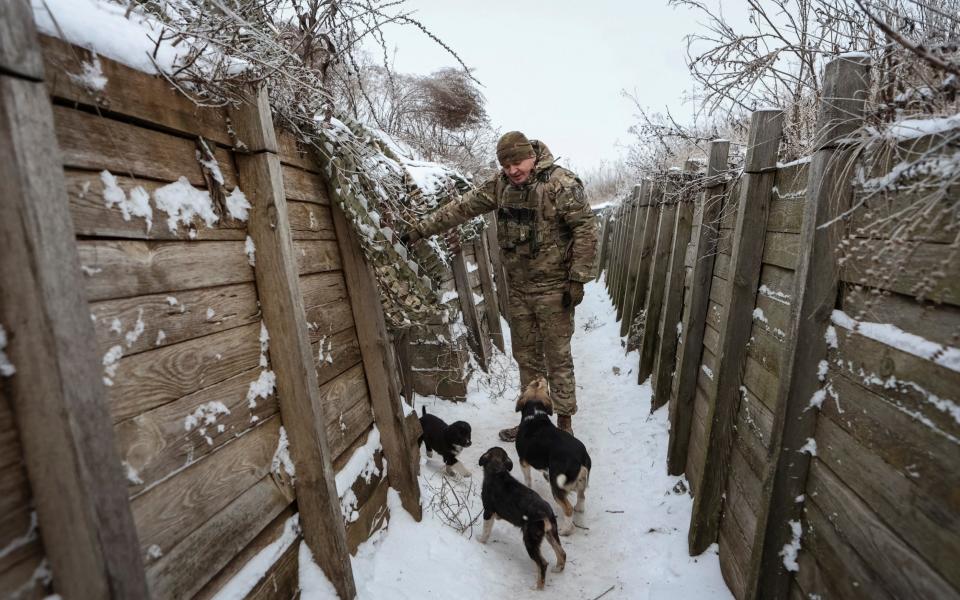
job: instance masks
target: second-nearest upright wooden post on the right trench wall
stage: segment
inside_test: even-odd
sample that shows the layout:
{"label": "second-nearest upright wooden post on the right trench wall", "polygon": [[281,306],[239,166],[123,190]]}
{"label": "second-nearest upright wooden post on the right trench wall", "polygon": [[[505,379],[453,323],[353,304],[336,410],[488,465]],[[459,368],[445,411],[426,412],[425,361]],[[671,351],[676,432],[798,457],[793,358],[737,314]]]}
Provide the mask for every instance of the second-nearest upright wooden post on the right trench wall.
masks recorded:
{"label": "second-nearest upright wooden post on the right trench wall", "polygon": [[722,497],[729,470],[733,421],[740,398],[740,377],[756,305],[770,194],[776,179],[777,153],[783,134],[783,112],[758,110],[750,119],[749,145],[737,208],[730,256],[730,279],[720,317],[714,398],[706,422],[706,454],[700,481],[694,487],[693,514],[687,542],[691,555],[717,539]]}

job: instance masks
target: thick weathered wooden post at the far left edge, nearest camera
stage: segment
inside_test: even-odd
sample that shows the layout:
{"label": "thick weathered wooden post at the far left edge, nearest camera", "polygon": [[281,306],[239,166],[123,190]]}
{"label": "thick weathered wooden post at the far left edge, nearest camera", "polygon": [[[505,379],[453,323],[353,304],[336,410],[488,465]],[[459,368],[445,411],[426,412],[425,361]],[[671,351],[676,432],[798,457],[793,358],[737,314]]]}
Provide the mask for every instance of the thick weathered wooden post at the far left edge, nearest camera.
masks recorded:
{"label": "thick weathered wooden post at the far left edge, nearest camera", "polygon": [[[64,597],[146,598],[30,4],[0,4],[0,377]],[[4,593],[12,590],[4,590]]]}

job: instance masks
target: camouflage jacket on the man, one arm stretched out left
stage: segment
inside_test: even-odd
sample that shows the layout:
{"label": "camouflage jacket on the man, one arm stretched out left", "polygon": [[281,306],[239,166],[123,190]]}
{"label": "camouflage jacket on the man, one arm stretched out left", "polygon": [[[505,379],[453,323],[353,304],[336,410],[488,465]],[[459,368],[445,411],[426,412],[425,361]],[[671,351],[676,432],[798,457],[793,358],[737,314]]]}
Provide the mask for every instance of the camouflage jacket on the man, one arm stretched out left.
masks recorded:
{"label": "camouflage jacket on the man, one arm stretched out left", "polygon": [[507,279],[522,293],[555,291],[569,280],[590,281],[597,251],[597,221],[580,179],[555,165],[545,144],[532,144],[537,162],[526,183],[513,185],[501,172],[417,227],[430,236],[497,211]]}

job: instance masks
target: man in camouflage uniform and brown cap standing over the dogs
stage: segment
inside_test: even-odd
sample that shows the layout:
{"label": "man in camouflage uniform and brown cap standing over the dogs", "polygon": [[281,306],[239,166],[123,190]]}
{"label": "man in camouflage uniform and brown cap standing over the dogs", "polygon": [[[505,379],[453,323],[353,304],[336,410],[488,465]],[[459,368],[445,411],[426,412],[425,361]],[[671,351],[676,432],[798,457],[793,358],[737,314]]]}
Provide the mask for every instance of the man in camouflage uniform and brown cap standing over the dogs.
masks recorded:
{"label": "man in camouflage uniform and brown cap standing over the dogs", "polygon": [[[405,238],[415,242],[497,211],[520,385],[525,388],[545,376],[557,426],[572,433],[577,397],[570,338],[574,307],[583,300],[583,284],[594,275],[596,218],[580,179],[554,164],[543,142],[511,131],[497,143],[497,160],[500,173],[438,210]],[[501,439],[513,441],[517,429],[504,429]]]}

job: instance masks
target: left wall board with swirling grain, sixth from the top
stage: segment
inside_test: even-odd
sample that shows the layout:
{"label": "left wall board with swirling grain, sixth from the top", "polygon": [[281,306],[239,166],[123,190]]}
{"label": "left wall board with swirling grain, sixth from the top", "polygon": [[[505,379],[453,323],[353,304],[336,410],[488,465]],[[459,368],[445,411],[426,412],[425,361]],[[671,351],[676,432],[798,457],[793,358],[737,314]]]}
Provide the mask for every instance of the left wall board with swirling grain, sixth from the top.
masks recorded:
{"label": "left wall board with swirling grain, sixth from the top", "polygon": [[255,368],[260,324],[251,323],[121,358],[107,388],[114,422]]}

